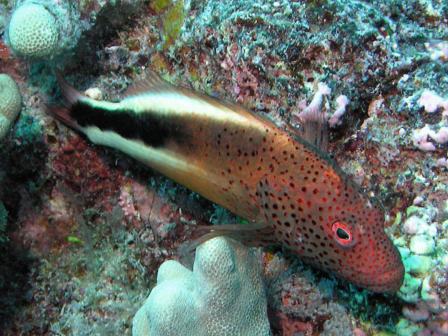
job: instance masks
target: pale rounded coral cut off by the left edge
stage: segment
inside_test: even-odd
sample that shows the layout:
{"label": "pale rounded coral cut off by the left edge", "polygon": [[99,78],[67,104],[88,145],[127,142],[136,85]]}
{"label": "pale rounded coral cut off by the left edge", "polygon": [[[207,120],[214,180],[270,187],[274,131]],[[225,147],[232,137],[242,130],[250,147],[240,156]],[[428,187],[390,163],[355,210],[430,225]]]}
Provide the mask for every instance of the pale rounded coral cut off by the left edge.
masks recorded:
{"label": "pale rounded coral cut off by the left edge", "polygon": [[11,124],[22,109],[22,95],[10,76],[0,73],[0,140],[6,136]]}

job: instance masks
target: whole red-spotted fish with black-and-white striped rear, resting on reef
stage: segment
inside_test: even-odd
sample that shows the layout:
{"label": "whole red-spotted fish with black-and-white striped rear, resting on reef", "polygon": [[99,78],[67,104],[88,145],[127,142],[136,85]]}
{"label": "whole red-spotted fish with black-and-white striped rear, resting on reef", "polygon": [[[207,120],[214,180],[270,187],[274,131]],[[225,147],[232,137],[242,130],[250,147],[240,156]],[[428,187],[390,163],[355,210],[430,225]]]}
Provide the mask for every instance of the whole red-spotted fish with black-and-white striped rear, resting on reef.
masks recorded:
{"label": "whole red-spotted fish with black-and-white striped rear, resting on reef", "polygon": [[202,226],[193,246],[217,235],[249,246],[281,244],[361,288],[394,293],[402,285],[405,271],[384,232],[384,207],[321,150],[328,148],[323,113],[304,116],[303,135],[155,71],[116,103],[85,96],[58,69],[55,76],[64,106],[47,105],[48,113],[247,221]]}

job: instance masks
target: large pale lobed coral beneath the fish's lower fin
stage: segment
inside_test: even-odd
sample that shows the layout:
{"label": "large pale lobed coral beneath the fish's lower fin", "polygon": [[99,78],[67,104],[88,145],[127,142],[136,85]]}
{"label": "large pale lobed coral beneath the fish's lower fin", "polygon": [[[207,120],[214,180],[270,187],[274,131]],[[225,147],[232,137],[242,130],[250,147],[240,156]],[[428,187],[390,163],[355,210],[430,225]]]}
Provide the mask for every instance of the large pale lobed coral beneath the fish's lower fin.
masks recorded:
{"label": "large pale lobed coral beneath the fish's lower fin", "polygon": [[193,272],[164,262],[157,283],[134,317],[133,336],[270,335],[255,257],[238,241],[204,242]]}

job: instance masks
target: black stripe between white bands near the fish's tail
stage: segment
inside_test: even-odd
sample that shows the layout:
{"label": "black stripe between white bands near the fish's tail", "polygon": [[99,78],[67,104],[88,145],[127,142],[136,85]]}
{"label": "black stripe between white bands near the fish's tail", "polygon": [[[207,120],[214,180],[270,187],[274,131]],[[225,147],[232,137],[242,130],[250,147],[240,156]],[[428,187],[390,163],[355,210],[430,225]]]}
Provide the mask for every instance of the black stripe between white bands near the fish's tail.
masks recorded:
{"label": "black stripe between white bands near the fish's tail", "polygon": [[187,137],[181,123],[151,112],[110,111],[78,101],[71,106],[70,116],[81,127],[97,126],[102,131],[116,132],[125,139],[139,139],[151,147],[164,146],[169,140],[182,144]]}

